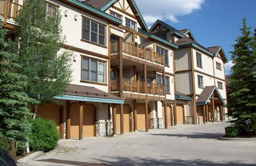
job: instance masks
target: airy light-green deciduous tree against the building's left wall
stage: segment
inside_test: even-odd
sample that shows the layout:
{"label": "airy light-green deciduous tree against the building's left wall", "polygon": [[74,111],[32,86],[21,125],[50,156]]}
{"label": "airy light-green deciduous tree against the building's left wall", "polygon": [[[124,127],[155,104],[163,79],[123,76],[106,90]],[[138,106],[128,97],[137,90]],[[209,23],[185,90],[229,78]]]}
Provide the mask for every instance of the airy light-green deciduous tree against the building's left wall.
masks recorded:
{"label": "airy light-green deciduous tree against the building's left wall", "polygon": [[[27,94],[38,102],[57,102],[71,81],[72,52],[61,49],[65,43],[60,11],[42,0],[26,0],[17,17],[20,38],[20,72],[28,77]],[[33,107],[36,115],[37,104]]]}

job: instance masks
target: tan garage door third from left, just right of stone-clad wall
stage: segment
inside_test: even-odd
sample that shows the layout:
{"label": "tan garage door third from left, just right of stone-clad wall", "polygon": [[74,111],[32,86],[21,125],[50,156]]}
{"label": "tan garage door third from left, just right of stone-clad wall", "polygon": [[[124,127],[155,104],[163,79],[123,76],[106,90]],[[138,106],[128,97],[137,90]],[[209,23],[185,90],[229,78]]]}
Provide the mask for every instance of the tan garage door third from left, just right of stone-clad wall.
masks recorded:
{"label": "tan garage door third from left, just right of stone-clad wall", "polygon": [[[130,107],[127,104],[124,104],[124,132],[131,132],[130,129]],[[120,123],[120,105],[116,107],[116,133],[121,133],[121,123]]]}

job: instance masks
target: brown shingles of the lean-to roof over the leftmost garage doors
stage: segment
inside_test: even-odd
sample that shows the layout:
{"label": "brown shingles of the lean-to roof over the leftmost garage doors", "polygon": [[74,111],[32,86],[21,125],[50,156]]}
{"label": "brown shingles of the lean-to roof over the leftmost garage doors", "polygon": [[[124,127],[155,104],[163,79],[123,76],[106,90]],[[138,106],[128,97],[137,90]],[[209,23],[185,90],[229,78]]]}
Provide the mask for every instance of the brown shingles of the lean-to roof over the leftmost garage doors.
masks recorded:
{"label": "brown shingles of the lean-to roof over the leftmost garage doors", "polygon": [[65,94],[75,95],[75,96],[85,96],[85,97],[97,97],[103,99],[116,99],[122,100],[120,97],[117,97],[113,94],[106,93],[95,87],[87,87],[81,85],[69,84]]}

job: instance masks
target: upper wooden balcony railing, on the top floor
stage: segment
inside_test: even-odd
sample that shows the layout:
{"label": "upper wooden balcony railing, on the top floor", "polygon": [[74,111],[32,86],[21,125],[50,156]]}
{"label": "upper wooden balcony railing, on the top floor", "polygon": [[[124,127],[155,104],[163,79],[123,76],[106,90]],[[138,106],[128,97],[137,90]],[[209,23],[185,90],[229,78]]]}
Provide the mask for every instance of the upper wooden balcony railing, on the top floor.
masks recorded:
{"label": "upper wooden balcony railing, on the top floor", "polygon": [[[110,44],[111,53],[117,54],[119,53],[119,41],[112,41]],[[132,43],[128,43],[123,41],[123,52],[137,58],[146,59],[152,63],[164,65],[164,55],[160,55],[158,53],[153,52],[152,50],[148,50],[144,47],[139,47],[138,45],[133,45]]]}

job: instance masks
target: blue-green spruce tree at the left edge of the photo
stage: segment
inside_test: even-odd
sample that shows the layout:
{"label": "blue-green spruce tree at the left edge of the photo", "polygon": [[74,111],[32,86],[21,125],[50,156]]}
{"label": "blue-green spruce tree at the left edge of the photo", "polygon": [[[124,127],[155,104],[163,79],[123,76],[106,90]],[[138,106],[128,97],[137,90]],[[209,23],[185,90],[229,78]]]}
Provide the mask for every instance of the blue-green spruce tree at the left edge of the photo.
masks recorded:
{"label": "blue-green spruce tree at the left edge of the photo", "polygon": [[27,77],[17,73],[22,70],[15,53],[17,44],[5,42],[6,33],[0,24],[0,138],[24,145],[30,133],[27,118],[32,116],[28,104],[35,101],[25,93]]}

